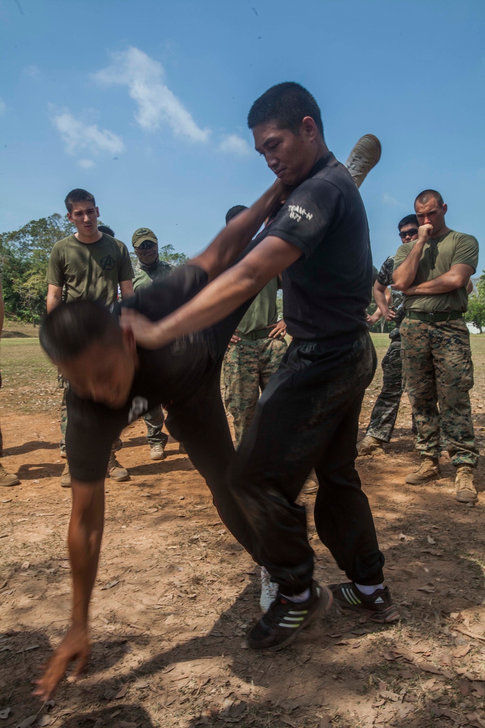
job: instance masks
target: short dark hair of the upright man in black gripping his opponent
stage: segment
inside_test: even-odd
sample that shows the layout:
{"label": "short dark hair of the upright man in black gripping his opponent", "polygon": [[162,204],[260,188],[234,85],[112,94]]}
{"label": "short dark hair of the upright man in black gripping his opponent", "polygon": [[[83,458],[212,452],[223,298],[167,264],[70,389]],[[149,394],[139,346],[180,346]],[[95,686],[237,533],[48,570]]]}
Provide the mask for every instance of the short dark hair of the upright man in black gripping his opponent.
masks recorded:
{"label": "short dark hair of the upright man in black gripping his opponent", "polygon": [[300,84],[288,81],[272,86],[254,101],[247,125],[254,129],[258,124],[276,122],[280,129],[289,129],[296,134],[305,116],[311,116],[323,137],[324,125],[318,103]]}

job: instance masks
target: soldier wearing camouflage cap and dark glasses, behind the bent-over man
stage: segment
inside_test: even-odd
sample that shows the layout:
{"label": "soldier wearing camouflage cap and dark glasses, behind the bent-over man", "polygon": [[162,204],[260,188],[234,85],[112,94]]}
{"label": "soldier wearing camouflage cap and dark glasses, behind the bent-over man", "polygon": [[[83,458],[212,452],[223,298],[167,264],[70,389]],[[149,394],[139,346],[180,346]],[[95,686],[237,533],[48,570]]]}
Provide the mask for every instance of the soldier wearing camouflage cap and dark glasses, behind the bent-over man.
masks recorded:
{"label": "soldier wearing camouflage cap and dark glasses, behind the bent-over man", "polygon": [[[159,240],[149,228],[138,228],[132,237],[133,248],[138,258],[135,269],[133,289],[151,285],[153,281],[162,281],[172,270],[172,266],[159,258]],[[147,440],[150,445],[152,460],[164,460],[168,435],[162,432],[164,411],[161,405],[147,412],[143,419],[147,429]]]}

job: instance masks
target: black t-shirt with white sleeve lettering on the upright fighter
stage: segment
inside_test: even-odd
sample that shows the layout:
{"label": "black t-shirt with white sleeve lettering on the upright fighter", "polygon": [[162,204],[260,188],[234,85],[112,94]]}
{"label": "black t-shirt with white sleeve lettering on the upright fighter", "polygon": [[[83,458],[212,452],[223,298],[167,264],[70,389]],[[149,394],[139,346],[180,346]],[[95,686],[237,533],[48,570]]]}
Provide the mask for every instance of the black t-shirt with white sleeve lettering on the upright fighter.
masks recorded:
{"label": "black t-shirt with white sleeve lettering on the upright fighter", "polygon": [[296,339],[364,331],[372,253],[364,203],[348,170],[329,152],[257,237],[275,235],[302,256],[283,272],[283,317]]}

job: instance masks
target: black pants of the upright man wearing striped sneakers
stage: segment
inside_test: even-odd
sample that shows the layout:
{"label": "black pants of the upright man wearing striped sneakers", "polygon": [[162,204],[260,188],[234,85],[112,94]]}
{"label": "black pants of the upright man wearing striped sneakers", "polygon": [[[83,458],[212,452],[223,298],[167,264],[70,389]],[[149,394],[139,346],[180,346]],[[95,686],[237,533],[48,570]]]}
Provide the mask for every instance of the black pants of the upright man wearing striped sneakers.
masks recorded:
{"label": "black pants of the upright man wearing striped sneakers", "polygon": [[305,508],[295,503],[311,467],[318,536],[348,578],[382,582],[384,557],[354,467],[358,416],[376,356],[369,334],[294,340],[262,392],[231,459],[231,491],[252,529],[252,554],[284,594],[313,574]]}

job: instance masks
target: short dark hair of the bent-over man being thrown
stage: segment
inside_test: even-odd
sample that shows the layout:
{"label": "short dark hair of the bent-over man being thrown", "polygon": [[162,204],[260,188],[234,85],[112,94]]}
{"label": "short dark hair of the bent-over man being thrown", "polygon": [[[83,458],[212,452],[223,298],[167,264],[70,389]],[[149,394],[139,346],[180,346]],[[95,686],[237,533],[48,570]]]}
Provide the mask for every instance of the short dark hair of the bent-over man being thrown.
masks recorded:
{"label": "short dark hair of the bent-over man being thrown", "polygon": [[95,341],[121,344],[121,329],[109,309],[95,301],[79,300],[59,304],[45,317],[39,340],[55,362],[79,356]]}

